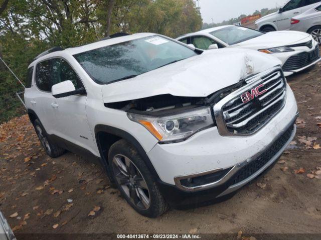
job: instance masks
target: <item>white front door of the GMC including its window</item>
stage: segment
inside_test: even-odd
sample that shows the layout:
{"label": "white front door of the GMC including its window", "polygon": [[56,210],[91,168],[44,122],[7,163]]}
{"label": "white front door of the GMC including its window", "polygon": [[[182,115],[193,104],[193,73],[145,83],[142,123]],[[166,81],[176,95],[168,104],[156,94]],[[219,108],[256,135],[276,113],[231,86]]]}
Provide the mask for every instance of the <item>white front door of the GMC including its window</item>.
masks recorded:
{"label": "white front door of the GMC including its window", "polygon": [[[76,71],[63,58],[52,59],[53,84],[71,80],[76,89],[83,87]],[[80,146],[92,153],[97,152],[86,116],[87,95],[77,94],[52,99],[57,135],[64,138],[67,148],[77,152]]]}

